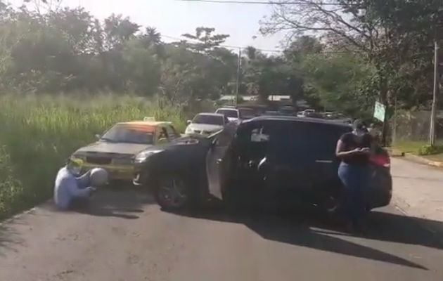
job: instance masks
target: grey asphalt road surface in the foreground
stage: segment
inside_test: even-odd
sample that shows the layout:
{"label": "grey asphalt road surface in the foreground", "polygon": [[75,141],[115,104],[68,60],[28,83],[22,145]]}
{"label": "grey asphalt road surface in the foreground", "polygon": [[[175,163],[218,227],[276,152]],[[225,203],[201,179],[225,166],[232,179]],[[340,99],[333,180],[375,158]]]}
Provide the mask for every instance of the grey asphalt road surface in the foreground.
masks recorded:
{"label": "grey asphalt road surface in the foreground", "polygon": [[[425,222],[425,221],[423,221]],[[161,211],[106,190],[80,214],[51,204],[0,226],[0,280],[442,280],[437,237],[394,208],[347,235],[315,211]]]}

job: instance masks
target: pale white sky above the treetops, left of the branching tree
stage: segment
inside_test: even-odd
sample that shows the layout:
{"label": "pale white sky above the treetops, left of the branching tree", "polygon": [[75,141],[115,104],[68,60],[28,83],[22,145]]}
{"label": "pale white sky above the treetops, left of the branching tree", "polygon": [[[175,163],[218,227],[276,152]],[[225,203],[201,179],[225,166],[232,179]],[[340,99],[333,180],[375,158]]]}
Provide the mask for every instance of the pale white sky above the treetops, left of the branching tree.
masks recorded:
{"label": "pale white sky above the treetops, left of the branching tree", "polygon": [[[23,4],[23,0],[9,2],[15,6]],[[161,34],[170,37],[192,34],[195,27],[205,26],[214,27],[217,33],[230,34],[226,45],[275,49],[283,39],[283,34],[271,37],[259,34],[259,20],[271,14],[272,8],[268,5],[175,0],[62,0],[62,6],[79,5],[101,19],[111,13],[121,13],[139,25],[156,27]],[[257,36],[257,39],[252,39],[253,36]]]}

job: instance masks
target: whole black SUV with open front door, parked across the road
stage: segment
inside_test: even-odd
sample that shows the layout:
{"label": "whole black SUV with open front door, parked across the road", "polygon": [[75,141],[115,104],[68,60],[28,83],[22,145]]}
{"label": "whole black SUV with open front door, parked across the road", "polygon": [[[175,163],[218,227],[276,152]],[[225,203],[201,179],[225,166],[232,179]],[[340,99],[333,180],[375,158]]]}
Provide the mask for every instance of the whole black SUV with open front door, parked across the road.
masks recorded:
{"label": "whole black SUV with open front door, parked across the road", "polygon": [[[233,204],[338,207],[340,160],[335,145],[348,125],[321,119],[256,117],[236,131],[186,137],[137,164],[136,181],[160,206],[182,209],[209,197]],[[375,147],[367,209],[390,203],[390,158]]]}

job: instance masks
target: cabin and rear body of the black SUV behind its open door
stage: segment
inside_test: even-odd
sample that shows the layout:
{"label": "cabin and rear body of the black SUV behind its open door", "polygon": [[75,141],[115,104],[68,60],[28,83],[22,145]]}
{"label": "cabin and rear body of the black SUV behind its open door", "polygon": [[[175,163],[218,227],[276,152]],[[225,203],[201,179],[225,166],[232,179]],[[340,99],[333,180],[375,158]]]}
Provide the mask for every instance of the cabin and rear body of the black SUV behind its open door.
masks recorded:
{"label": "cabin and rear body of the black SUV behind its open door", "polygon": [[[225,161],[231,162],[224,199],[265,204],[338,207],[342,184],[335,146],[347,124],[298,117],[257,117],[241,124]],[[390,203],[390,157],[378,145],[371,157],[367,209]],[[252,198],[253,197],[253,198]]]}

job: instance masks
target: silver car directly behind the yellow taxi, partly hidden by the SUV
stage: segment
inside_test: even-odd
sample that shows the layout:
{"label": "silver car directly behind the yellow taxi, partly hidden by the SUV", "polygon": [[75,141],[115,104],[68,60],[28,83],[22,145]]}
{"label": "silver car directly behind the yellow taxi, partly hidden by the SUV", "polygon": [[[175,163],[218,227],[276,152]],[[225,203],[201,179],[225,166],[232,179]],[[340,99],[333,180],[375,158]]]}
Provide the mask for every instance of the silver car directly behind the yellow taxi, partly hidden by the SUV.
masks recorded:
{"label": "silver car directly behind the yellow taxi, partly hidden by the SUV", "polygon": [[186,134],[200,133],[210,135],[216,131],[220,131],[229,124],[229,119],[219,113],[199,113],[192,120],[188,120]]}

